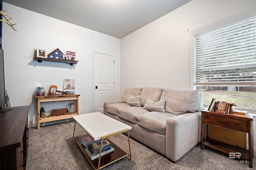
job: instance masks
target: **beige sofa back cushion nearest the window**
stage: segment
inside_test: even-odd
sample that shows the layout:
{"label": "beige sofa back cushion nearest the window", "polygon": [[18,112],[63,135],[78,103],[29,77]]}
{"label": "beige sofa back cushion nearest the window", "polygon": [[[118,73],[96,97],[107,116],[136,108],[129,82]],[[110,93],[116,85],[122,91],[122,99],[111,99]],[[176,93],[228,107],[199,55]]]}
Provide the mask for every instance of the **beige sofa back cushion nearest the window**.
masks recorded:
{"label": "beige sofa back cushion nearest the window", "polygon": [[165,111],[183,114],[198,110],[200,92],[196,90],[164,89],[160,100],[165,99]]}

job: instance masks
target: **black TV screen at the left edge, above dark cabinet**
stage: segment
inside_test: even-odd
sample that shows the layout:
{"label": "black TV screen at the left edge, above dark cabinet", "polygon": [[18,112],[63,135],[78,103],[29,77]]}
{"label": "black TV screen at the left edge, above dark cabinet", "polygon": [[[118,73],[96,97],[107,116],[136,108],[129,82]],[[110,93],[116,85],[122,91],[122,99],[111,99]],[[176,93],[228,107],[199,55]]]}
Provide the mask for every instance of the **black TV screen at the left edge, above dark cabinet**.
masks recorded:
{"label": "black TV screen at the left edge, above dark cabinet", "polygon": [[4,88],[4,53],[0,48],[0,107],[5,105],[5,88]]}

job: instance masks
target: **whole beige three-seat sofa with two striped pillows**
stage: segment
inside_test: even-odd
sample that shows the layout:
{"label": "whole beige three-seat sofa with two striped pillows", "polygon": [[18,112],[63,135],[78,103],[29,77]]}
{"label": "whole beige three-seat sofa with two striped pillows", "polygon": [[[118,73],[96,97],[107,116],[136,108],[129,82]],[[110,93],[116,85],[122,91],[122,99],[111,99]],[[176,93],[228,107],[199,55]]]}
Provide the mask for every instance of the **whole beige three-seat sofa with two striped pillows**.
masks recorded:
{"label": "whole beige three-seat sofa with two striped pillows", "polygon": [[179,160],[200,142],[203,96],[196,90],[126,88],[122,100],[104,102],[104,114],[132,127],[134,139]]}

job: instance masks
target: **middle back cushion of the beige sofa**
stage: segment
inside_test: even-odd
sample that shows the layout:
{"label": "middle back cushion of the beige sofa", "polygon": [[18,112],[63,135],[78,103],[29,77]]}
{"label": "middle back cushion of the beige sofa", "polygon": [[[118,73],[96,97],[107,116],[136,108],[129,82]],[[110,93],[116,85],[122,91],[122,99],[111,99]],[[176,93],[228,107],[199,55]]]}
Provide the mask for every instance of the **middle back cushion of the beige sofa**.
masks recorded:
{"label": "middle back cushion of the beige sofa", "polygon": [[147,98],[150,98],[154,102],[159,101],[162,95],[162,91],[163,91],[162,88],[144,87],[140,94],[140,99],[141,99],[140,105],[143,107],[146,103]]}

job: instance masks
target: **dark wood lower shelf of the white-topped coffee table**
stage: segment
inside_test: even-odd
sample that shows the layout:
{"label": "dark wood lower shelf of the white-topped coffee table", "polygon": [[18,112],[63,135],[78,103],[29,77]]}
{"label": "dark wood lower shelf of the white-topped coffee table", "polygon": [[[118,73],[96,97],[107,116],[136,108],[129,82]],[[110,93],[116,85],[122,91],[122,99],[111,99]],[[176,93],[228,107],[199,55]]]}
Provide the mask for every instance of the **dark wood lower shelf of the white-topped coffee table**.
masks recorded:
{"label": "dark wood lower shelf of the white-topped coffee table", "polygon": [[[73,141],[76,144],[76,147],[78,148],[80,154],[83,156],[84,160],[86,161],[86,163],[90,164],[90,166],[92,166],[93,169],[98,169],[98,161],[99,158],[91,160],[86,153],[84,152],[84,145],[82,144],[82,138],[84,137],[88,137],[89,135],[82,135],[79,137],[74,137]],[[111,146],[115,149],[113,152],[110,152],[104,156],[101,156],[100,158],[100,169],[104,168],[105,166],[112,164],[113,162],[116,162],[117,160],[120,160],[126,156],[128,156],[128,154],[126,152],[124,152],[124,150],[120,149],[118,146],[116,146],[114,143],[112,143],[109,139],[108,141],[110,142]],[[88,164],[88,165],[89,165]]]}

